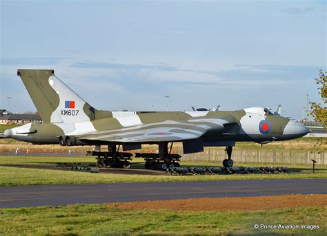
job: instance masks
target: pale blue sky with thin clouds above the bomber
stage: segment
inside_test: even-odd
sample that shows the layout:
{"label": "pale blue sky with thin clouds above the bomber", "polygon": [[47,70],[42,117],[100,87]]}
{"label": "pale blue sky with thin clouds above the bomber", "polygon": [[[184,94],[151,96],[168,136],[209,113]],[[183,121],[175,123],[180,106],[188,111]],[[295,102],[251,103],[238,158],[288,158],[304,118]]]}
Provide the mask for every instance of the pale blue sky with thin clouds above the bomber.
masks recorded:
{"label": "pale blue sky with thin clouds above the bomber", "polygon": [[[17,69],[54,69],[97,109],[302,118],[326,70],[326,1],[3,1],[0,109],[36,111]],[[11,99],[8,99],[11,97]]]}

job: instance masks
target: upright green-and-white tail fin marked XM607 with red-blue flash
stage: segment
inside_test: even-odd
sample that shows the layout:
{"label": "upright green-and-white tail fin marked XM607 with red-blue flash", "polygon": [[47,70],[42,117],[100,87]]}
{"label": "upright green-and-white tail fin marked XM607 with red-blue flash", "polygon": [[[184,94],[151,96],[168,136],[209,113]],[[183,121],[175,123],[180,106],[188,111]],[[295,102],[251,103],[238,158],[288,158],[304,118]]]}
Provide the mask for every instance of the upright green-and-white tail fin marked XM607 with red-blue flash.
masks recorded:
{"label": "upright green-and-white tail fin marked XM607 with red-blue flash", "polygon": [[95,119],[96,110],[70,87],[53,69],[18,69],[28,94],[43,122],[81,122]]}

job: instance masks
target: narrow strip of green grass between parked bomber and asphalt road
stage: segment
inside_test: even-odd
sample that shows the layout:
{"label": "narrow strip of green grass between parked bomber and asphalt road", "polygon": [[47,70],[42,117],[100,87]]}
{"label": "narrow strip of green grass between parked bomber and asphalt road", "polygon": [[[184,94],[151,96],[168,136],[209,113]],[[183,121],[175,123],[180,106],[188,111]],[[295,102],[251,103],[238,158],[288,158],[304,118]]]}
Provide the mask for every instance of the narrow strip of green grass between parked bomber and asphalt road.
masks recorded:
{"label": "narrow strip of green grass between parked bomber and asphalt road", "polygon": [[0,186],[41,184],[99,184],[136,182],[186,182],[220,180],[281,180],[327,178],[327,173],[256,174],[256,175],[123,175],[0,167]]}

